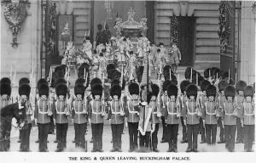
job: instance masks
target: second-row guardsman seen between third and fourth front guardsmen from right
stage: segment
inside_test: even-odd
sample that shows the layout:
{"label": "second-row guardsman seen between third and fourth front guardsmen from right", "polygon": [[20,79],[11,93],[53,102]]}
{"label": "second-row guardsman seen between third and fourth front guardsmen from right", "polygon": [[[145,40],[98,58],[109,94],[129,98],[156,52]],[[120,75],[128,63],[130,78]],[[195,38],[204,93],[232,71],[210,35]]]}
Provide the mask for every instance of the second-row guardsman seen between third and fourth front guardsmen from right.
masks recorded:
{"label": "second-row guardsman seen between third and fourth front guardsmen from right", "polygon": [[[205,102],[207,101],[207,86],[211,85],[211,82],[204,80],[200,83],[200,88],[201,88],[201,92],[199,93],[199,103],[201,104],[201,106],[203,106],[203,104],[205,104]],[[200,128],[199,131],[201,133],[201,143],[206,143],[206,128],[203,125],[203,121],[202,118],[199,118],[200,121]]]}

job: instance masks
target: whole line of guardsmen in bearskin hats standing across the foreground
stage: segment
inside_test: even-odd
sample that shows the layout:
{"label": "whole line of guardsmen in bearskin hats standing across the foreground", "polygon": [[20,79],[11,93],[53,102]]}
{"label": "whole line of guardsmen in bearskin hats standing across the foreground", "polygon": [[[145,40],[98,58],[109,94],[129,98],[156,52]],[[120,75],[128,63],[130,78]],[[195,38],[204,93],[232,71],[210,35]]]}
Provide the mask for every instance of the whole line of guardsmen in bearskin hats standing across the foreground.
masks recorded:
{"label": "whole line of guardsmen in bearskin hats standing across the foreground", "polygon": [[[191,70],[191,71],[190,71]],[[78,79],[74,87],[72,102],[68,102],[68,87],[57,82],[56,96],[49,95],[49,85],[44,79],[38,81],[38,95],[35,110],[32,110],[30,89],[27,80],[20,80],[18,101],[11,104],[11,83],[9,78],[1,80],[1,151],[8,151],[12,117],[17,121],[15,110],[26,108],[26,126],[20,128],[20,151],[30,151],[29,137],[32,127],[31,115],[38,124],[39,151],[46,152],[50,116],[53,115],[56,126],[57,149],[60,152],[67,148],[68,116],[72,116],[75,128],[75,146],[87,149],[84,140],[87,123],[91,125],[93,137],[92,152],[103,152],[102,134],[104,117],[111,119],[113,151],[121,152],[121,137],[124,124],[129,128],[129,152],[150,149],[158,152],[159,124],[163,123],[163,138],[169,144],[167,152],[177,152],[177,132],[181,122],[183,141],[188,142],[186,152],[197,152],[197,138],[201,132],[202,141],[207,144],[216,143],[217,126],[220,127],[220,141],[230,152],[235,151],[235,138],[244,143],[244,150],[253,151],[254,140],[254,88],[246,82],[234,82],[228,78],[212,82],[211,75],[203,80],[190,68],[186,70],[186,80],[173,82],[172,76],[160,84],[146,82],[140,85],[131,82],[128,92],[119,82],[112,83],[109,100],[105,100],[104,80],[94,78],[90,82],[91,96],[85,92],[84,81]],[[188,73],[190,71],[190,74]],[[186,75],[187,74],[187,75]],[[188,77],[189,76],[189,77]],[[196,77],[196,82],[193,81]],[[205,76],[206,77],[206,76]],[[218,74],[217,77],[218,79]],[[170,80],[171,79],[171,80]],[[199,80],[199,81],[197,81]],[[200,84],[199,84],[200,83]],[[122,86],[122,84],[121,84]],[[149,91],[147,96],[147,91]],[[180,93],[179,93],[180,92]],[[91,97],[91,98],[90,98]],[[148,103],[147,103],[148,102]],[[20,106],[20,104],[23,104]],[[34,112],[34,113],[33,113]],[[164,120],[164,122],[163,122]],[[236,137],[237,128],[237,137]],[[243,131],[242,131],[243,130]],[[166,135],[165,135],[166,134]],[[139,143],[137,138],[139,135]]]}

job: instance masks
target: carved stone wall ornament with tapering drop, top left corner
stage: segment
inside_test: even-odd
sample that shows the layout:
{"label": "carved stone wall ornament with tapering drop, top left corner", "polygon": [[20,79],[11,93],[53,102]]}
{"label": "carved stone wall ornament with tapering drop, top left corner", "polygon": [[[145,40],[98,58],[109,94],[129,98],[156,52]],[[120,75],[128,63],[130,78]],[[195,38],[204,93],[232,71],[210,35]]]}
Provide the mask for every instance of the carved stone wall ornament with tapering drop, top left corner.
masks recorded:
{"label": "carved stone wall ornament with tapering drop, top left corner", "polygon": [[28,0],[2,0],[6,4],[3,14],[13,33],[12,47],[18,47],[17,36],[20,25],[26,20],[26,5],[30,6]]}

